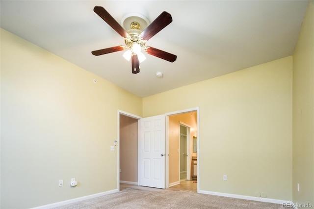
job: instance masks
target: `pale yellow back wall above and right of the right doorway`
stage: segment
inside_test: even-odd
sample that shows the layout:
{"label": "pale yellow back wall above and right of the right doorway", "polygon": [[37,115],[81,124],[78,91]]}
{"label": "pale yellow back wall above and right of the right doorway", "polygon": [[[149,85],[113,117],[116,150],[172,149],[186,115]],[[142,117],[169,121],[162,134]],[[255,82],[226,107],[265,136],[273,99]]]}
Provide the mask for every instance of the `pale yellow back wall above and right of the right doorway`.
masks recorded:
{"label": "pale yellow back wall above and right of the right doorway", "polygon": [[292,200],[292,56],[143,98],[143,116],[196,106],[201,190]]}

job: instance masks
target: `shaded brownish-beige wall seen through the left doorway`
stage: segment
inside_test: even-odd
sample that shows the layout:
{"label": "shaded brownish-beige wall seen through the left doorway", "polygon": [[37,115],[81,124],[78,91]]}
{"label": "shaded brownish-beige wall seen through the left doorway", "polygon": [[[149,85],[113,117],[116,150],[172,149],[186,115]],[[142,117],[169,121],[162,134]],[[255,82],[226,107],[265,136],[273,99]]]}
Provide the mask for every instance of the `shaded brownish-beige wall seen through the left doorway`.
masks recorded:
{"label": "shaded brownish-beige wall seen through the left doorway", "polygon": [[120,114],[120,182],[137,183],[138,120]]}

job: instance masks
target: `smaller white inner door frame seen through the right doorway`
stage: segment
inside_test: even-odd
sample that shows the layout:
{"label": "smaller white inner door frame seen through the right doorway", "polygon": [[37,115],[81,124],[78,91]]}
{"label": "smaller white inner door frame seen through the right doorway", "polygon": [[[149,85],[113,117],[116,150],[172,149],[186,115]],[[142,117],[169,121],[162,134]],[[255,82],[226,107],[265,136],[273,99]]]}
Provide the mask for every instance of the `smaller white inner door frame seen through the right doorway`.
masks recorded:
{"label": "smaller white inner door frame seen through the right doorway", "polygon": [[[191,179],[191,148],[190,148],[190,141],[191,141],[191,136],[190,136],[190,128],[191,126],[188,124],[183,123],[182,121],[179,121],[179,129],[181,129],[181,126],[186,128],[186,150],[184,150],[186,152],[187,158],[186,158],[186,180],[190,180]],[[180,133],[180,131],[179,131]],[[179,151],[180,151],[180,155],[182,153],[181,150],[181,135],[179,136]],[[180,171],[181,171],[181,157],[179,157],[179,176],[180,176]],[[180,179],[180,178],[179,178]],[[180,179],[181,180],[181,179]],[[180,181],[181,182],[181,181]]]}

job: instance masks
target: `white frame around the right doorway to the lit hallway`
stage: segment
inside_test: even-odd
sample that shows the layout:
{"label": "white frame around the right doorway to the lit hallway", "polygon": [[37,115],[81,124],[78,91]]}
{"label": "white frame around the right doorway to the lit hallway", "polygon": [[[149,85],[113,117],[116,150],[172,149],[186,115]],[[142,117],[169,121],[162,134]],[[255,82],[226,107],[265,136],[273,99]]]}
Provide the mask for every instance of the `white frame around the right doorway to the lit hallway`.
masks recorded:
{"label": "white frame around the right doorway to the lit hallway", "polygon": [[169,116],[183,114],[187,112],[197,112],[197,192],[200,191],[200,107],[183,109],[175,112],[166,113],[166,188],[169,188]]}

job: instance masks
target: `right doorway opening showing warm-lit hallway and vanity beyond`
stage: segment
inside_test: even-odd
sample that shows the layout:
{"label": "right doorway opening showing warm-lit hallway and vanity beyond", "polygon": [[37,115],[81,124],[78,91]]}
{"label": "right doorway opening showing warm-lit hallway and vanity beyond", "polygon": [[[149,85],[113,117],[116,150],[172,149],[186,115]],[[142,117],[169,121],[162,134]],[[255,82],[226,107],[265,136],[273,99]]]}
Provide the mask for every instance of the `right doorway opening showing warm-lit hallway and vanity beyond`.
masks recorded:
{"label": "right doorway opening showing warm-lit hallway and vanity beyond", "polygon": [[169,115],[168,121],[169,187],[197,191],[197,111]]}

